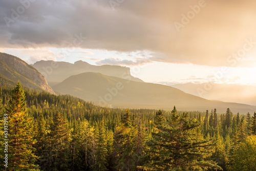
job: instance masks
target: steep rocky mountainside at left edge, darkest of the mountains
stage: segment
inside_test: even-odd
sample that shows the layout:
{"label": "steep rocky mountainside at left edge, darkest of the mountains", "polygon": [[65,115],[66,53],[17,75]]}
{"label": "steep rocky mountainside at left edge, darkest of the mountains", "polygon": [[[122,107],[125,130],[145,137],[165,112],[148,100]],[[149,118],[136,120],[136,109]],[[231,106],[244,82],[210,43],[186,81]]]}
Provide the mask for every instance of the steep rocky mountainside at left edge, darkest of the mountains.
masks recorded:
{"label": "steep rocky mountainside at left edge, darkest of the mountains", "polygon": [[[44,76],[22,59],[6,53],[0,53],[0,83],[2,86],[14,86],[17,81],[28,88],[44,90],[55,94]],[[13,85],[14,84],[14,85]]]}

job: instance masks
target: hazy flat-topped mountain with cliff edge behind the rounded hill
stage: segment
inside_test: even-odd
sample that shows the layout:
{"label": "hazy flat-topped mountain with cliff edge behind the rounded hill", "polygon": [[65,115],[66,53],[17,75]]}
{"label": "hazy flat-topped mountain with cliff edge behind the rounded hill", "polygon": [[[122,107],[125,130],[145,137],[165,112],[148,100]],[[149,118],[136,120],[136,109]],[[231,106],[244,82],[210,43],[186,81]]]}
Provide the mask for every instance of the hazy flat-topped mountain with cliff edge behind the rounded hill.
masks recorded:
{"label": "hazy flat-topped mountain with cliff edge behind the rounded hill", "polygon": [[130,79],[133,81],[143,82],[139,78],[135,78],[130,73],[130,68],[121,66],[94,66],[84,61],[76,61],[74,64],[69,62],[55,62],[52,60],[48,61],[37,61],[32,65],[42,75],[45,76],[46,80],[54,85],[58,82],[65,80],[66,78],[81,74],[84,72],[95,72],[101,73],[108,76],[115,76],[124,79]]}

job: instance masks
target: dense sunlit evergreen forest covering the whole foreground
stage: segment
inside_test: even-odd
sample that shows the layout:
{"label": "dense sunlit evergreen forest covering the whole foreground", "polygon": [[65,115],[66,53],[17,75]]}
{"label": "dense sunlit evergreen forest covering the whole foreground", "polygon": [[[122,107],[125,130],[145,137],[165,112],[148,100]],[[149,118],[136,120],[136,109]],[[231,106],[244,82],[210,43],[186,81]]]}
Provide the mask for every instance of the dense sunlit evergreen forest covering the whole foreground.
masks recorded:
{"label": "dense sunlit evergreen forest covering the whole foreground", "polygon": [[0,87],[0,95],[2,136],[8,114],[7,170],[256,168],[256,113],[102,108],[71,96],[23,91],[19,83]]}

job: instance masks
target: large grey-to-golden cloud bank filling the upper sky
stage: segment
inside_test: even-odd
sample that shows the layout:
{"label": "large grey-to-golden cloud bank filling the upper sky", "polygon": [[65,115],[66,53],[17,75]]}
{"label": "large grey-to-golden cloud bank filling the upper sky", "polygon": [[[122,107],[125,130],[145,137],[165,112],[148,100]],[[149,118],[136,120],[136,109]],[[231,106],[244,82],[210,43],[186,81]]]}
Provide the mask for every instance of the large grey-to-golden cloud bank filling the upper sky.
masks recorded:
{"label": "large grey-to-golden cloud bank filling the upper sky", "polygon": [[37,0],[18,14],[20,1],[0,1],[0,46],[148,50],[164,54],[151,59],[156,61],[231,66],[227,58],[243,48],[245,39],[256,41],[256,2],[205,0],[178,32],[175,22],[182,24],[191,6],[198,5],[196,0],[129,0],[113,10],[103,0]]}

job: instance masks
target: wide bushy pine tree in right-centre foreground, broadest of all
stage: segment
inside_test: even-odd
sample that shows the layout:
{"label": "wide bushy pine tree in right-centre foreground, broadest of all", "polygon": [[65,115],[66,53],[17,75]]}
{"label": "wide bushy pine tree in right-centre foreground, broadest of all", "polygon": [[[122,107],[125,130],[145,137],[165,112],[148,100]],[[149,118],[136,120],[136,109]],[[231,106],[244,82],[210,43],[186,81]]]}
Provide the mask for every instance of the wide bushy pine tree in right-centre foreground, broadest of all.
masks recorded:
{"label": "wide bushy pine tree in right-centre foreground, broadest of all", "polygon": [[[172,111],[168,125],[161,127],[149,145],[145,170],[193,170],[220,167],[210,160],[212,143],[203,139],[196,119]],[[200,158],[199,158],[200,156]]]}

